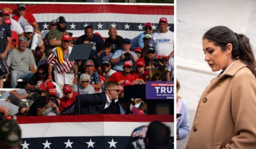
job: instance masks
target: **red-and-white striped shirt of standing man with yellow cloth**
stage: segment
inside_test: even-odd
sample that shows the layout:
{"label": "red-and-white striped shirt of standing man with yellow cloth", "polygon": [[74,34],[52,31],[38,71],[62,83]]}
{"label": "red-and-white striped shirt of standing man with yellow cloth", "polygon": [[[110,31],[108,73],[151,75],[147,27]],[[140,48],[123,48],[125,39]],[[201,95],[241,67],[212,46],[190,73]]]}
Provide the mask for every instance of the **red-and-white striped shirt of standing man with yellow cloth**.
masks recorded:
{"label": "red-and-white striped shirt of standing man with yellow cloth", "polygon": [[68,61],[68,58],[70,56],[71,51],[72,51],[71,46],[68,47],[68,52],[67,52],[66,56],[64,56],[64,51],[62,51],[62,54],[63,54],[64,58],[63,58],[63,63],[60,64],[59,57],[58,57],[58,54],[57,54],[57,47],[55,47],[52,50],[52,53],[49,55],[47,63],[51,66],[54,66],[56,64],[55,68],[57,68],[57,70],[60,74],[68,73],[68,72],[71,71],[71,68],[74,65],[74,61]]}

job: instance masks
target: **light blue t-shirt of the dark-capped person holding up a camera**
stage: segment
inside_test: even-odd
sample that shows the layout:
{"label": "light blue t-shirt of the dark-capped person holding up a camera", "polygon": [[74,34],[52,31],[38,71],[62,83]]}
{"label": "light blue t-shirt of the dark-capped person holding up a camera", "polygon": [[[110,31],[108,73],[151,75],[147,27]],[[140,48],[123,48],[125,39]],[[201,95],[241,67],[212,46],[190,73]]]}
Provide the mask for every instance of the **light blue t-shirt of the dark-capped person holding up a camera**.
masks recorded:
{"label": "light blue t-shirt of the dark-capped person holding up a camera", "polygon": [[[134,55],[136,58],[138,58],[137,55],[136,55],[136,53],[135,53],[134,51],[131,51],[131,53],[132,53],[132,55]],[[117,51],[114,52],[114,55],[112,56],[112,58],[118,58],[118,57],[120,57],[122,54],[125,54],[125,51],[123,51],[123,50],[117,50]],[[130,60],[130,61],[131,61],[131,60]],[[131,61],[131,62],[132,62],[132,61]],[[131,72],[134,70],[134,62],[132,62],[132,63],[133,63],[133,65],[132,65]],[[114,65],[113,69],[114,69],[115,71],[123,72],[123,71],[124,71],[124,69],[123,69],[123,64],[124,64],[124,61],[123,61],[123,60],[120,60],[119,62],[117,62],[117,63]]]}

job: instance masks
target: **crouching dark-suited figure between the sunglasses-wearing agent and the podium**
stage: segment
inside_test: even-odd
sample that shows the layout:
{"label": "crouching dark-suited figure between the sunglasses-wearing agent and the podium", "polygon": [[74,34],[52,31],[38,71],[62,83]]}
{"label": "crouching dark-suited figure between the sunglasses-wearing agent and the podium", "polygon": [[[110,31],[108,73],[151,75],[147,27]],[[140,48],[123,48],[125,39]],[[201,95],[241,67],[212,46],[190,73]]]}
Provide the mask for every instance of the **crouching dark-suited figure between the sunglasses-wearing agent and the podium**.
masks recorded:
{"label": "crouching dark-suited figure between the sunglasses-wearing agent and the podium", "polygon": [[[121,92],[118,101],[116,103],[111,103],[108,108],[102,111],[102,114],[131,114],[131,98],[125,98],[124,92]],[[121,113],[120,107],[125,113]]]}

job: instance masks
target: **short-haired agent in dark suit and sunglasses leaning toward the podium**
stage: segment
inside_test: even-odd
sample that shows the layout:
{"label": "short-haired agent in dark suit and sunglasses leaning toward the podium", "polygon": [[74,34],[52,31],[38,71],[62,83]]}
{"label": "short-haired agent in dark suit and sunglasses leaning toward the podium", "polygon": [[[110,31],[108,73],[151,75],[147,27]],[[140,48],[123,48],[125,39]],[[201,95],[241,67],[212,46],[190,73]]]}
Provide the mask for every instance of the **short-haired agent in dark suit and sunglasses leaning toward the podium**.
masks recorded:
{"label": "short-haired agent in dark suit and sunglasses leaning toward the podium", "polygon": [[[107,82],[104,92],[80,95],[80,114],[99,114],[108,108],[110,102],[119,96],[119,87],[116,82]],[[75,114],[79,114],[79,100],[76,96]]]}

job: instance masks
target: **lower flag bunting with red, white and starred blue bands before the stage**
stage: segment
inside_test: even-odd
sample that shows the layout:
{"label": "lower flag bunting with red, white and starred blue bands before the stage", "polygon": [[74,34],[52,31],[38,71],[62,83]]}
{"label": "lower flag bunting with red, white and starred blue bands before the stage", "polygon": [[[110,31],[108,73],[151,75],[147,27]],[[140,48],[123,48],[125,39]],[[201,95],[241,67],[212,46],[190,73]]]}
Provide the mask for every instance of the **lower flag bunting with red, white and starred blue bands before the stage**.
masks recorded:
{"label": "lower flag bunting with red, white and starred blue bands before the stage", "polygon": [[17,117],[21,149],[125,149],[135,128],[158,120],[170,127],[173,115],[70,115]]}

